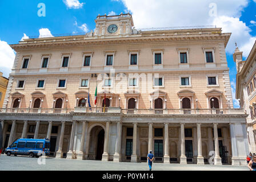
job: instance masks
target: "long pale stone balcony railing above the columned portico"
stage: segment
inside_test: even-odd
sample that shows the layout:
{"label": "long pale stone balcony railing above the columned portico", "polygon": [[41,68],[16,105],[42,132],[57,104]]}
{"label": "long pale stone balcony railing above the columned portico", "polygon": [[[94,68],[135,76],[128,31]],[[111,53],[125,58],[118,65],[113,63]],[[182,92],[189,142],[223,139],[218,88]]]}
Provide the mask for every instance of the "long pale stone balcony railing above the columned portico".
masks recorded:
{"label": "long pale stone balcony railing above the columned portico", "polygon": [[245,114],[243,109],[121,109],[120,107],[75,107],[74,109],[4,108],[0,113],[122,113],[122,114]]}

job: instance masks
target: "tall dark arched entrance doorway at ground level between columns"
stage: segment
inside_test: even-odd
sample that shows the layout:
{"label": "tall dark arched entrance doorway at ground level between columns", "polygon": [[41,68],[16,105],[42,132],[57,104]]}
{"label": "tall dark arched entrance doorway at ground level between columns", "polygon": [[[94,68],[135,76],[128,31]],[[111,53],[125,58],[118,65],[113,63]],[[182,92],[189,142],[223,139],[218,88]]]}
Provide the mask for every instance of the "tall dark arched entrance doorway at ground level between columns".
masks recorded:
{"label": "tall dark arched entrance doorway at ground level between columns", "polygon": [[95,126],[90,131],[89,159],[101,160],[104,150],[105,131],[101,126]]}

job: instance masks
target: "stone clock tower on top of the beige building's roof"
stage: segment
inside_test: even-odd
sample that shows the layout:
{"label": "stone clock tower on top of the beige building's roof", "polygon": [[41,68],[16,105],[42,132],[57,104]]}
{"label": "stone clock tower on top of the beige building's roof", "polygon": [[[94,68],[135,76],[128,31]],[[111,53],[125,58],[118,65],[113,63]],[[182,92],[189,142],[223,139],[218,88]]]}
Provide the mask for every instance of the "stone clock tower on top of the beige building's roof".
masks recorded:
{"label": "stone clock tower on top of the beige building's roof", "polygon": [[96,28],[94,36],[98,38],[123,37],[132,34],[133,16],[131,14],[120,14],[107,16],[98,15],[95,19]]}

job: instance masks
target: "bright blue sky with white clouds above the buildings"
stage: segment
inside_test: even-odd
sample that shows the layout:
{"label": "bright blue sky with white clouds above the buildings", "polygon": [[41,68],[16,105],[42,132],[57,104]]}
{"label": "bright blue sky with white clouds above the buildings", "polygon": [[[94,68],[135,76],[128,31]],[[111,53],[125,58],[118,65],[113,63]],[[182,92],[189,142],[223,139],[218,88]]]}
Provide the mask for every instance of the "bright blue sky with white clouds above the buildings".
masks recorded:
{"label": "bright blue sky with white clouds above the buildings", "polygon": [[85,34],[100,15],[130,13],[136,28],[207,26],[231,32],[226,47],[235,107],[235,42],[247,59],[256,40],[256,0],[0,0],[0,72],[9,77],[15,52],[26,38]]}

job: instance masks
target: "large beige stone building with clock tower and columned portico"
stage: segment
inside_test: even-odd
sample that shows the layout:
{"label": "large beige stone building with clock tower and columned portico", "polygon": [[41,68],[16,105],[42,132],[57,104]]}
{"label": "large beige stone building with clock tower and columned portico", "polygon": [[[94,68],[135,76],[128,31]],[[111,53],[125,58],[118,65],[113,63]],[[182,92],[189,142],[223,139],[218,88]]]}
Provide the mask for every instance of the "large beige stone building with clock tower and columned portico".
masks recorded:
{"label": "large beige stone building with clock tower and columned portico", "polygon": [[57,158],[146,162],[153,150],[155,162],[246,164],[246,114],[233,109],[225,54],[230,33],[136,30],[130,14],[95,23],[86,35],[11,45],[5,146],[47,137]]}

